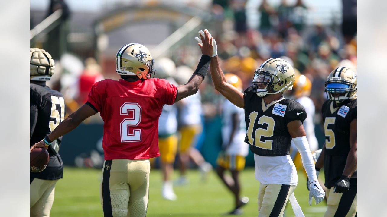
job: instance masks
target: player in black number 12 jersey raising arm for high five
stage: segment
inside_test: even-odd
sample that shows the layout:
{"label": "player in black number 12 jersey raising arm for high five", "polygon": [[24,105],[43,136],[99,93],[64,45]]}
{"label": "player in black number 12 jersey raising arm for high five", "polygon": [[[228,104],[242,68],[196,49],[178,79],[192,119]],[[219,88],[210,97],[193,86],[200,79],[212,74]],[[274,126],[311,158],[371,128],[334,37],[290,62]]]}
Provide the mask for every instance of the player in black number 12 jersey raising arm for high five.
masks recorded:
{"label": "player in black number 12 jersey raising arm for high five", "polygon": [[[197,38],[203,47],[210,46]],[[303,120],[307,117],[302,105],[285,99],[283,92],[295,81],[293,67],[283,59],[266,60],[254,72],[252,86],[243,93],[227,83],[219,66],[216,42],[212,40],[211,76],[215,88],[234,105],[245,109],[247,135],[245,142],[254,153],[255,178],[260,181],[258,211],[260,217],[283,216],[285,204],[297,185],[297,172],[289,156],[293,139],[301,154],[303,166],[310,179],[309,203],[325,196],[317,181]]]}

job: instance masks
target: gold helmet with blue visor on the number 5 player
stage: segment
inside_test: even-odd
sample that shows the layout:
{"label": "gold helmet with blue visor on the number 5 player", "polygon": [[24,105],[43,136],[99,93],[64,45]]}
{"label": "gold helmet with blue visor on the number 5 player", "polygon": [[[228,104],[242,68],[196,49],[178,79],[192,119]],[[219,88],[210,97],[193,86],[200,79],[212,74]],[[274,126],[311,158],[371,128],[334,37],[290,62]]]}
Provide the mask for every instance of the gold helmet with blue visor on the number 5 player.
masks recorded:
{"label": "gold helmet with blue visor on the number 5 player", "polygon": [[325,81],[325,92],[330,100],[340,103],[357,97],[357,75],[348,67],[337,67]]}

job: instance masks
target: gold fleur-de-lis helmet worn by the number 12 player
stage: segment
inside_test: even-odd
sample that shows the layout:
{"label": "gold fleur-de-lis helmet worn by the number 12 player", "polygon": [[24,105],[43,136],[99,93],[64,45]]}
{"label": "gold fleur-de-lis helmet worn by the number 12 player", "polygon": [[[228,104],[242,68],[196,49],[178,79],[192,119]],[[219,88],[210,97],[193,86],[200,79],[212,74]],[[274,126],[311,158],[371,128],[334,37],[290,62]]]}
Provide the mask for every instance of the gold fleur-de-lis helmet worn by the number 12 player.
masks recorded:
{"label": "gold fleur-de-lis helmet worn by the number 12 player", "polygon": [[[266,94],[282,93],[291,90],[295,80],[293,67],[284,59],[271,58],[264,61],[254,72],[253,91],[259,97]],[[263,84],[265,88],[260,88]]]}

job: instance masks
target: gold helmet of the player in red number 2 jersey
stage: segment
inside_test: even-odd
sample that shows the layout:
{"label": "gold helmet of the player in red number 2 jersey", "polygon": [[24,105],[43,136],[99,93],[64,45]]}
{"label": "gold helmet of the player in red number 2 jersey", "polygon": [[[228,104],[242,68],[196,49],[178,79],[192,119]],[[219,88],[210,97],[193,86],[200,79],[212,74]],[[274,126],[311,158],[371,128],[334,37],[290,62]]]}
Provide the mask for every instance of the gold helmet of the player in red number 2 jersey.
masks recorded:
{"label": "gold helmet of the player in red number 2 jersey", "polygon": [[155,71],[153,64],[151,52],[142,44],[126,44],[116,54],[116,72],[119,75],[136,75],[149,79]]}

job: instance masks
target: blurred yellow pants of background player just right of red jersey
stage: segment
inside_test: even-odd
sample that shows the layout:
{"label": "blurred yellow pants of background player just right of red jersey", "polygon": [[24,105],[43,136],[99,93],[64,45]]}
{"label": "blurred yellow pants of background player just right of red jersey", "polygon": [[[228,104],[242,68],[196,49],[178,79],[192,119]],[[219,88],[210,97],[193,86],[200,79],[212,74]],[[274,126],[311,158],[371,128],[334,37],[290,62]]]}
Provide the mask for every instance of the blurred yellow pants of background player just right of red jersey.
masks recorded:
{"label": "blurred yellow pants of background player just right of red jersey", "polygon": [[177,136],[171,135],[165,138],[159,137],[160,159],[164,163],[175,162],[177,151]]}

